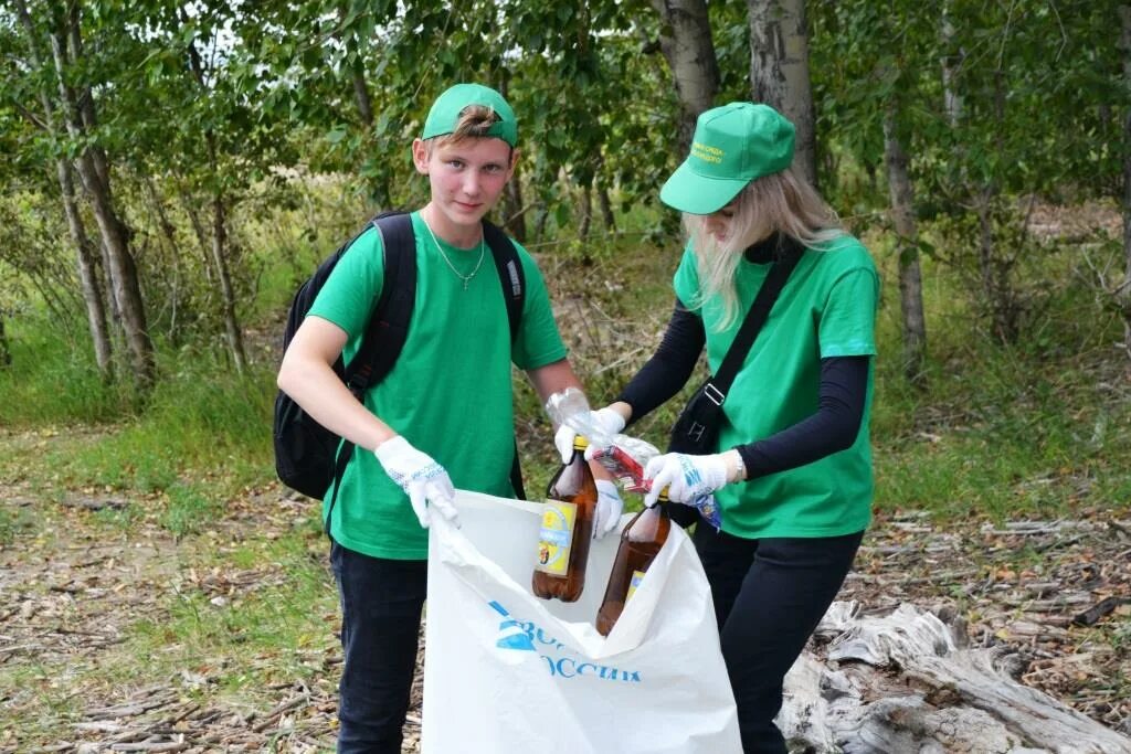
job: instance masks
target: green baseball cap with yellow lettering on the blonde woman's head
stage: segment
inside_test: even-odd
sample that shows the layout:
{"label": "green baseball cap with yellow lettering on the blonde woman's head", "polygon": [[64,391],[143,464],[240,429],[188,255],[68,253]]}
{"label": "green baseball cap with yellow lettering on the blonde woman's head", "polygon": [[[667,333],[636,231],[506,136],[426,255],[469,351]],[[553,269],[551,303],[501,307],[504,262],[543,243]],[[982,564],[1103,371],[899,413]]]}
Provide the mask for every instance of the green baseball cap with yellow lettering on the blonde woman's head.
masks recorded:
{"label": "green baseball cap with yellow lettering on the blonde woman's head", "polygon": [[691,154],[659,190],[665,205],[710,215],[751,181],[793,162],[793,123],[769,105],[732,102],[699,115]]}

